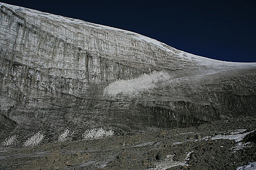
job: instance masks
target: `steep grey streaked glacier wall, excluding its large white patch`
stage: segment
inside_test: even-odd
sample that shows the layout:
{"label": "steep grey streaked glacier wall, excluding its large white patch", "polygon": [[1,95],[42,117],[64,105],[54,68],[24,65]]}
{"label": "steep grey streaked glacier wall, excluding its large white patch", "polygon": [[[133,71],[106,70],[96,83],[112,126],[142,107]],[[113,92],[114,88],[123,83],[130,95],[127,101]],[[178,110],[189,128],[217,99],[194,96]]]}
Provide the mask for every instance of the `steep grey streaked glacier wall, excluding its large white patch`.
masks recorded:
{"label": "steep grey streaked glacier wall, excluding its large white patch", "polygon": [[[116,80],[153,71],[170,78],[136,94],[104,93]],[[255,63],[207,59],[136,33],[0,3],[0,123],[24,138],[41,130],[54,139],[67,127],[185,127],[255,110]]]}

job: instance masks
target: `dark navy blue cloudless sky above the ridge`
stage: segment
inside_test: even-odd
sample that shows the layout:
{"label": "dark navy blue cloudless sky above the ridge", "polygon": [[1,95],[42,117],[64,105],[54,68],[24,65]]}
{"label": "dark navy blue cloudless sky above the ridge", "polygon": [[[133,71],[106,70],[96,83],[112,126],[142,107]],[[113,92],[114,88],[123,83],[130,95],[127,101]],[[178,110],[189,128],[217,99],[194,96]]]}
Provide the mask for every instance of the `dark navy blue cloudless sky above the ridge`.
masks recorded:
{"label": "dark navy blue cloudless sky above the ridge", "polygon": [[255,0],[0,1],[132,31],[208,58],[256,62]]}

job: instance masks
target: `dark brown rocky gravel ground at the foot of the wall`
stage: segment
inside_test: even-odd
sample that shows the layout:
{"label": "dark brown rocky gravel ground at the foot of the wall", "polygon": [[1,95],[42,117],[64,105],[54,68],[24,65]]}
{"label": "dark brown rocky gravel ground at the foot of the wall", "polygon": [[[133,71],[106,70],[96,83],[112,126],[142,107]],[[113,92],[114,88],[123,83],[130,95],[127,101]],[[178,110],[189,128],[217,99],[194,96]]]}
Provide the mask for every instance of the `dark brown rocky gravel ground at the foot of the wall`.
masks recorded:
{"label": "dark brown rocky gravel ground at the foot of the wall", "polygon": [[210,138],[255,129],[256,116],[241,116],[198,127],[0,148],[0,170],[235,170],[256,161],[256,132],[240,141]]}

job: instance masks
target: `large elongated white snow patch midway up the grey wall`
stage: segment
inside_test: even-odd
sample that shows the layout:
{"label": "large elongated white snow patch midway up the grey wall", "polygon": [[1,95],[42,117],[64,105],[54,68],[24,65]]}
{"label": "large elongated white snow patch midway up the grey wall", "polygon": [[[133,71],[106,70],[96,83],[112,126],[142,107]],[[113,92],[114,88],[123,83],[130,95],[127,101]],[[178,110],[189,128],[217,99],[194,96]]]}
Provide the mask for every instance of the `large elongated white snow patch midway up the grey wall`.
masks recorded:
{"label": "large elongated white snow patch midway up the grey wall", "polygon": [[151,74],[142,74],[130,80],[117,80],[104,89],[104,94],[116,96],[117,94],[134,94],[145,89],[154,88],[156,83],[169,80],[167,72],[154,71]]}

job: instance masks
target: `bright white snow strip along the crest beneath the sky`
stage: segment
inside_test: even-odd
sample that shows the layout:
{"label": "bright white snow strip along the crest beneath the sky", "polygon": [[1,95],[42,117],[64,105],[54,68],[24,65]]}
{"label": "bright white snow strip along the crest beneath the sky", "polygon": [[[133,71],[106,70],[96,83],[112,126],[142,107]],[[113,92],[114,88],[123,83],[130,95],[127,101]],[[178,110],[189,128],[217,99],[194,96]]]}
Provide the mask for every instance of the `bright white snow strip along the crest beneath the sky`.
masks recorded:
{"label": "bright white snow strip along the crest beneath the sky", "polygon": [[[86,22],[80,19],[73,19],[73,18],[69,18],[69,17],[62,17],[62,16],[58,16],[58,15],[53,15],[53,14],[49,14],[49,13],[45,13],[45,12],[40,12],[37,10],[33,10],[33,9],[28,9],[28,8],[23,8],[23,7],[19,7],[19,6],[15,6],[15,5],[10,5],[10,4],[6,4],[6,3],[2,3],[0,2],[0,6],[6,6],[7,8],[15,11],[15,12],[21,12],[26,19],[28,20],[33,20],[34,18],[47,18],[50,20],[54,20],[57,23],[65,23],[68,25],[79,25],[80,27],[89,27],[92,29],[102,29],[102,30],[106,30],[106,31],[115,31],[115,32],[119,32],[122,34],[126,34],[127,36],[130,36],[131,39],[134,40],[138,40],[144,43],[148,43],[148,44],[152,44],[153,46],[157,46],[160,50],[162,51],[166,51],[172,54],[175,54],[178,58],[180,58],[181,60],[186,59],[189,61],[195,61],[198,62],[202,65],[206,65],[206,66],[210,66],[213,63],[217,64],[217,65],[233,65],[233,66],[250,66],[250,67],[255,67],[256,63],[233,63],[233,62],[225,62],[225,61],[218,61],[218,60],[214,60],[214,59],[209,59],[209,58],[205,58],[205,57],[201,57],[201,56],[197,56],[194,54],[190,54],[188,52],[184,52],[184,51],[179,51],[175,48],[172,48],[162,42],[159,42],[155,39],[146,37],[144,35],[141,34],[137,34],[134,32],[130,32],[130,31],[125,31],[125,30],[121,30],[118,28],[113,28],[113,27],[109,27],[109,26],[103,26],[103,25],[99,25],[99,24],[94,24],[94,23],[90,23],[90,22]],[[40,23],[38,23],[38,25],[40,25]],[[54,34],[54,31],[53,31]]]}

